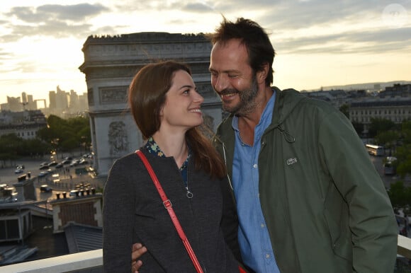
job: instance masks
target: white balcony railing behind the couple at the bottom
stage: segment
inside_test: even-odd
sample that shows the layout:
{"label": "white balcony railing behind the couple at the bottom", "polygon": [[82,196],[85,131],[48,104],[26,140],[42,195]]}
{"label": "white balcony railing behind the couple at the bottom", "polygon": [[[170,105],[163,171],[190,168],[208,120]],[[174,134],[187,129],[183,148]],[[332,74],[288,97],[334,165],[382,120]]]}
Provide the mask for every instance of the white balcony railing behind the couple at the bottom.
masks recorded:
{"label": "white balcony railing behind the couple at the bottom", "polygon": [[[411,238],[398,236],[398,255],[411,259]],[[92,250],[76,254],[52,257],[31,262],[21,262],[16,265],[0,267],[0,272],[25,273],[56,273],[72,272],[83,269],[101,267],[103,265],[103,250]],[[101,270],[102,271],[102,270]]]}

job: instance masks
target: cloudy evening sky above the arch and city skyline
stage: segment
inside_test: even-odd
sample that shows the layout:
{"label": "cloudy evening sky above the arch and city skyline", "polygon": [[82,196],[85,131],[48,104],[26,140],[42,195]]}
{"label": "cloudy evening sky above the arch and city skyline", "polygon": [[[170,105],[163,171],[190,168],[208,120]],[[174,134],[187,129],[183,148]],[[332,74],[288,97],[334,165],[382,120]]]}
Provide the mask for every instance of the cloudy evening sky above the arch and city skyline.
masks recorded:
{"label": "cloudy evening sky above the arch and city skyline", "polygon": [[89,35],[210,33],[249,18],[276,50],[274,85],[411,80],[411,0],[9,0],[0,9],[0,103],[57,86],[85,93],[81,48]]}

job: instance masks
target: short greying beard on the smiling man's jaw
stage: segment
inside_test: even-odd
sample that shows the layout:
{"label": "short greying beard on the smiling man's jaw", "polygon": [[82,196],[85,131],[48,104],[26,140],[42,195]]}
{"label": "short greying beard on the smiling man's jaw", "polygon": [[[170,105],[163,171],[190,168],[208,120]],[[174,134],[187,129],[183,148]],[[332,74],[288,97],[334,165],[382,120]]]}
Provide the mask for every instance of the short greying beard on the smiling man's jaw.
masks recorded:
{"label": "short greying beard on the smiling man's jaw", "polygon": [[221,92],[221,94],[229,94],[229,93],[238,93],[240,97],[240,103],[234,105],[232,107],[228,107],[223,103],[223,109],[227,112],[233,113],[235,115],[247,115],[250,112],[253,112],[255,108],[255,98],[257,97],[258,93],[258,84],[257,84],[257,77],[254,75],[252,77],[252,83],[249,88],[244,89],[242,91],[238,91],[237,89],[225,89]]}

